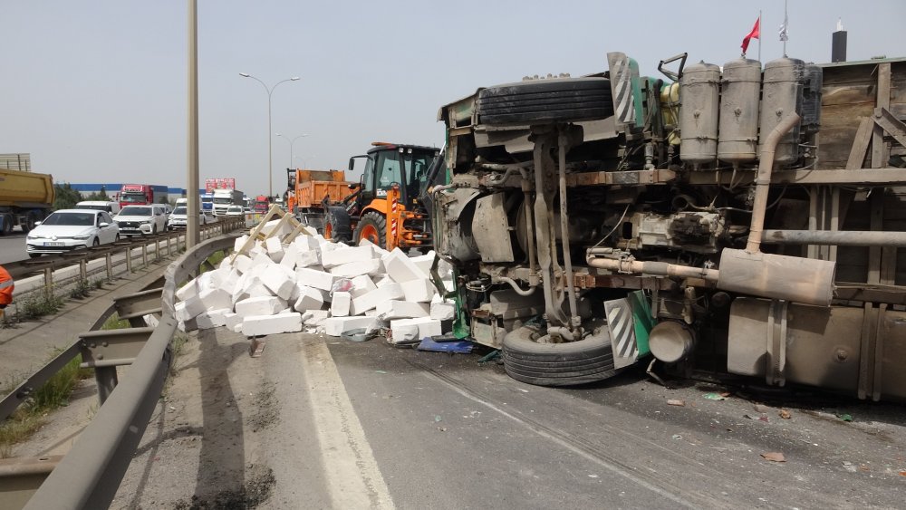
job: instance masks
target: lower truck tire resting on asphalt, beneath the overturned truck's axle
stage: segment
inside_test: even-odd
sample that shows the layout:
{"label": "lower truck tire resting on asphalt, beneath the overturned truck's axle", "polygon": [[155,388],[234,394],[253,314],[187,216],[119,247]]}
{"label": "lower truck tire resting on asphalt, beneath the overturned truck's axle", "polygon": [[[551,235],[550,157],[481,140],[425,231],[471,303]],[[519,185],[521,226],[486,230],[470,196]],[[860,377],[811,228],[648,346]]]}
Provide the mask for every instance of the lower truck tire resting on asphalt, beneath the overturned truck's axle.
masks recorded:
{"label": "lower truck tire resting on asphalt, beneath the overturned truck's axle", "polygon": [[503,359],[510,377],[537,386],[571,386],[616,375],[606,327],[577,342],[540,343],[542,333],[525,326],[506,335]]}

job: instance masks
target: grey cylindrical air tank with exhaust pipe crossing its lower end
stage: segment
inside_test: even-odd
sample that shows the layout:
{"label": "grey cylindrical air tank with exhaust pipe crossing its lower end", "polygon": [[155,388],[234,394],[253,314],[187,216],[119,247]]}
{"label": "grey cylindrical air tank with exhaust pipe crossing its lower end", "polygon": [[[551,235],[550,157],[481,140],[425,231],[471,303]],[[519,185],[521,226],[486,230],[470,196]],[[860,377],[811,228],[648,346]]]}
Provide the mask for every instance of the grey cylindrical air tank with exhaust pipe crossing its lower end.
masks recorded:
{"label": "grey cylindrical air tank with exhaust pipe crossing its lower end", "polygon": [[[799,59],[784,57],[765,64],[759,150],[777,124],[793,113],[802,115],[804,77],[805,63]],[[789,165],[799,159],[799,134],[800,128],[796,125],[780,139],[774,155],[776,164]]]}

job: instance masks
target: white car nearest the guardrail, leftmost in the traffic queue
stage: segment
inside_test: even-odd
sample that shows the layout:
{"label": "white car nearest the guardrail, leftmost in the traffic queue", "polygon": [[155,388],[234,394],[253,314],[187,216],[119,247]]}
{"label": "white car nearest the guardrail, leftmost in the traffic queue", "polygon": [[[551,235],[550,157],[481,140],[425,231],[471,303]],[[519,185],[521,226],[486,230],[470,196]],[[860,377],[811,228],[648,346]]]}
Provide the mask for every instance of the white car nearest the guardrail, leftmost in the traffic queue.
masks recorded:
{"label": "white car nearest the guardrail, leftmost in the traffic queue", "polygon": [[25,251],[31,257],[59,254],[120,240],[120,229],[107,211],[61,209],[25,236]]}

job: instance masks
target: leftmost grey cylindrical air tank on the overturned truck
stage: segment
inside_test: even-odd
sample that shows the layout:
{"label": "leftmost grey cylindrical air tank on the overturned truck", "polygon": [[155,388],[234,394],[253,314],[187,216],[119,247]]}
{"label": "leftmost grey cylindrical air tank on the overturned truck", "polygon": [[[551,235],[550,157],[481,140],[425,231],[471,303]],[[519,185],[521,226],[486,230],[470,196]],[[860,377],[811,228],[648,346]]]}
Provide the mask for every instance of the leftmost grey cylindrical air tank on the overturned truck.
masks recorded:
{"label": "leftmost grey cylindrical air tank on the overturned truck", "polygon": [[695,63],[679,79],[679,159],[699,166],[718,153],[718,100],[720,68]]}

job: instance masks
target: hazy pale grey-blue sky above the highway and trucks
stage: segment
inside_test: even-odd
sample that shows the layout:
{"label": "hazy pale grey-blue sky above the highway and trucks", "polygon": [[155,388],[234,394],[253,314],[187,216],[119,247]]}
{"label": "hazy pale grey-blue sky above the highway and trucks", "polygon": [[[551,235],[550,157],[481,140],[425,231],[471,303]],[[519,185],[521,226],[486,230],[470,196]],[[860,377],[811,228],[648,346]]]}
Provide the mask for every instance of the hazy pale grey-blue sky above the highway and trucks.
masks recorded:
{"label": "hazy pale grey-blue sky above the highway and trucks", "polygon": [[[768,62],[783,54],[783,0],[198,0],[200,178],[266,193],[275,133],[275,193],[284,168],[346,168],[372,141],[441,147],[444,104],[525,75],[606,71],[608,52],[659,77],[683,52],[720,65],[759,12]],[[31,153],[57,182],[185,187],[187,0],[0,0],[0,13],[0,153]],[[789,0],[786,53],[830,62],[838,18],[847,60],[906,57],[902,0]],[[240,72],[268,87],[300,77],[273,90],[271,130],[265,86]]]}

